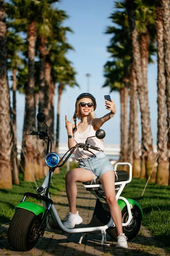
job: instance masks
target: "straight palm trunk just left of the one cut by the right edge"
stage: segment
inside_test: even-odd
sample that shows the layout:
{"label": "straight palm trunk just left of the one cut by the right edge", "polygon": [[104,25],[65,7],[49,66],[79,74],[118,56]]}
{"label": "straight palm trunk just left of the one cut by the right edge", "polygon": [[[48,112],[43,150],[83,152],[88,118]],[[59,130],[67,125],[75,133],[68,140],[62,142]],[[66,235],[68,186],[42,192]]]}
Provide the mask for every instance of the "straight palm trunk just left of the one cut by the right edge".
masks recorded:
{"label": "straight palm trunk just left of the one cut by the right edge", "polygon": [[162,12],[160,6],[156,8],[156,32],[157,32],[157,64],[158,64],[158,131],[157,131],[157,148],[158,157],[158,173],[156,184],[168,185],[169,182],[169,161],[167,148],[167,121],[166,121],[166,79],[164,75],[164,28],[162,21]]}

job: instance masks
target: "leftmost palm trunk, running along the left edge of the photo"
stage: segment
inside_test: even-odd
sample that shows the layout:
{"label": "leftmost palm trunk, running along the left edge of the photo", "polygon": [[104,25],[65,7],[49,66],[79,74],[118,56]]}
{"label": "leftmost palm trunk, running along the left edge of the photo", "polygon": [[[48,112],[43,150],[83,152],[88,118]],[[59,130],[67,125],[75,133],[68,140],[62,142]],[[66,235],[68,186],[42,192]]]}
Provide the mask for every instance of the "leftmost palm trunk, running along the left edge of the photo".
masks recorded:
{"label": "leftmost palm trunk, running along the left edge of the photo", "polygon": [[0,189],[12,189],[11,177],[11,125],[9,89],[6,70],[6,12],[0,0]]}

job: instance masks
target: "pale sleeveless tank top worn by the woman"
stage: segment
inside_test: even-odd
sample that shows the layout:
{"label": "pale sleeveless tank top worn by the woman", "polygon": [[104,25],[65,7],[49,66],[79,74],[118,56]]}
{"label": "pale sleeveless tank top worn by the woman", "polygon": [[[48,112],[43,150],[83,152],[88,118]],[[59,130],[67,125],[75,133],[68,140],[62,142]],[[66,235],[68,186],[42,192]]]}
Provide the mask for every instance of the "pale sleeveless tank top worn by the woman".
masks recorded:
{"label": "pale sleeveless tank top worn by the woman", "polygon": [[[96,131],[94,131],[92,121],[90,122],[88,128],[84,132],[80,133],[78,130],[74,132],[74,145],[76,145],[77,143],[85,143],[85,140],[87,140],[88,137],[95,136]],[[96,137],[93,137],[88,139],[88,144],[100,148],[102,151],[104,151],[103,140],[99,140]],[[90,149],[90,151],[93,152],[94,154],[98,152],[93,149]],[[76,148],[76,150],[74,151],[74,156],[76,160],[79,160],[81,158],[91,156],[91,152],[85,151],[82,148]]]}

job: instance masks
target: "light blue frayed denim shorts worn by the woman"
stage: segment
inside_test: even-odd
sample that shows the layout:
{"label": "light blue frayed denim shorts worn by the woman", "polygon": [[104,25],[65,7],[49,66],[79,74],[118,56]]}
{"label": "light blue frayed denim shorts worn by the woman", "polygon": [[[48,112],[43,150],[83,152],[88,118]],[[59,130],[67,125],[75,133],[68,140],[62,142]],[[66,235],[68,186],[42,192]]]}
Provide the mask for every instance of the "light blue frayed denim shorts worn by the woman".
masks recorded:
{"label": "light blue frayed denim shorts worn by the woman", "polygon": [[96,153],[96,156],[91,155],[87,158],[79,160],[79,167],[84,168],[94,174],[94,179],[99,179],[105,172],[113,171],[113,166],[108,157],[102,152]]}

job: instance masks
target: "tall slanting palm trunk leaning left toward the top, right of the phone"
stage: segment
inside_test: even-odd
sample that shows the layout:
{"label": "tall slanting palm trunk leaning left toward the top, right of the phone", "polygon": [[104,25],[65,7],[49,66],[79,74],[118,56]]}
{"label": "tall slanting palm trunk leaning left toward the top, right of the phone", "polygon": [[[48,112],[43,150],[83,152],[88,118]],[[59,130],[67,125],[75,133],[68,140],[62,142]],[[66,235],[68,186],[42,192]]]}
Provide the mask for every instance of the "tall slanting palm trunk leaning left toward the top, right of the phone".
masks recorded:
{"label": "tall slanting palm trunk leaning left toward the top, right of the phone", "polygon": [[[142,65],[141,65],[141,55],[139,49],[139,41],[138,41],[138,33],[136,30],[135,23],[135,12],[134,12],[134,2],[133,0],[127,0],[128,3],[128,20],[129,27],[132,38],[132,51],[133,51],[133,59],[135,62],[135,70],[136,70],[136,79],[138,86],[138,95],[139,95],[139,104],[141,111],[141,121],[142,121],[142,164],[146,158],[146,167],[147,167],[147,175],[150,174],[154,161],[155,154],[153,152],[153,141],[152,134],[150,128],[150,111],[149,111],[149,102],[148,95],[144,89],[143,85],[143,73],[142,73]],[[153,173],[156,172],[156,168],[154,168]],[[155,182],[154,179],[150,179],[151,182]]]}

